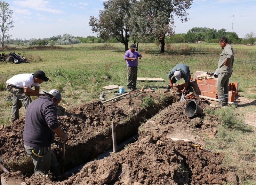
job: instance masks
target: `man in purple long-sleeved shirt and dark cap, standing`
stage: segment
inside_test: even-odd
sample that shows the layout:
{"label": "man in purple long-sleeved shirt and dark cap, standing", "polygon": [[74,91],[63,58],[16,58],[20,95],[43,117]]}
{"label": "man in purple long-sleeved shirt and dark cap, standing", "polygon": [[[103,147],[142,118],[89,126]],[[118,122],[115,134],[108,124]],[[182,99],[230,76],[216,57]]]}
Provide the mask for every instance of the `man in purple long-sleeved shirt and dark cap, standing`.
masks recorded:
{"label": "man in purple long-sleeved shirt and dark cap, standing", "polygon": [[124,60],[127,64],[127,91],[131,92],[136,90],[137,73],[138,73],[138,59],[141,59],[141,54],[136,51],[135,44],[130,46],[130,50],[127,50],[124,54]]}

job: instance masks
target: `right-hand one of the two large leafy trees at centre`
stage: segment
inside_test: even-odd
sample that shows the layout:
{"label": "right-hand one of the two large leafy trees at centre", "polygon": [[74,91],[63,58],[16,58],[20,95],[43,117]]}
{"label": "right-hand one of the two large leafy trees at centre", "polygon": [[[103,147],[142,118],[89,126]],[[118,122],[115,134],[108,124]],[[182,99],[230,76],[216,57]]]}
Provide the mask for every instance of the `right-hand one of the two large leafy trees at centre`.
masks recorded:
{"label": "right-hand one of the two large leafy trees at centre", "polygon": [[182,22],[188,21],[186,12],[193,0],[140,0],[131,8],[129,21],[131,35],[136,37],[155,37],[164,52],[166,35],[174,34],[174,16]]}

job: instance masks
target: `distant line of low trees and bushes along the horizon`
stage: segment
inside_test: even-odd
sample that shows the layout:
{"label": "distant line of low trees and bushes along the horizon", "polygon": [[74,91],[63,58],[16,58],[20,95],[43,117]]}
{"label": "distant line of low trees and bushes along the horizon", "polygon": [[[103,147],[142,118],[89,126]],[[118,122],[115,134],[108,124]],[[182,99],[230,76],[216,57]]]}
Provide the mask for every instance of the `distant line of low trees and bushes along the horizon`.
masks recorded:
{"label": "distant line of low trees and bushes along the horizon", "polygon": [[[165,43],[218,43],[221,36],[225,36],[229,43],[232,44],[250,44],[253,45],[256,42],[256,37],[253,32],[245,35],[244,38],[239,38],[236,32],[226,32],[226,29],[213,29],[206,27],[194,27],[188,30],[187,33],[175,34],[165,37]],[[130,38],[130,42],[133,42],[133,38]],[[76,43],[115,43],[118,42],[116,38],[105,40],[100,37],[87,36],[87,37],[75,37],[70,34],[64,34],[63,36],[57,35],[50,38],[32,38],[32,39],[9,39],[6,44],[14,44],[16,46],[31,46],[31,45],[69,45]],[[144,40],[145,42],[145,40]],[[158,43],[156,39],[147,40],[147,43]]]}

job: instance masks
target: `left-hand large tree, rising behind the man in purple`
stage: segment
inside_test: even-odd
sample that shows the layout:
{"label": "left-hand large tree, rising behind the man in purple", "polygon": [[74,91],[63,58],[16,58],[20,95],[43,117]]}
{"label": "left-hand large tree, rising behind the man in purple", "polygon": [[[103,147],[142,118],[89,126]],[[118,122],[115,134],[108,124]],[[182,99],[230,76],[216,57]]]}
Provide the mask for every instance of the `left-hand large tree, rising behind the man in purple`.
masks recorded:
{"label": "left-hand large tree, rising behind the man in purple", "polygon": [[116,38],[118,42],[125,45],[128,50],[130,7],[135,0],[108,0],[103,2],[104,10],[100,10],[99,19],[90,16],[88,23],[92,27],[92,32],[98,33],[97,36],[108,40]]}

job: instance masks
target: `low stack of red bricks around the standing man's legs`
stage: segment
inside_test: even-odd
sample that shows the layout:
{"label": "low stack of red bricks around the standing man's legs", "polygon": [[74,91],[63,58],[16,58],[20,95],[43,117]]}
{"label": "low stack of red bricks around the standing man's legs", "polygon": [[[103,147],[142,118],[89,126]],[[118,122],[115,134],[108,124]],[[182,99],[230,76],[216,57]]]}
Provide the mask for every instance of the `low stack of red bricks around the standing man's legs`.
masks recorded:
{"label": "low stack of red bricks around the standing man's legs", "polygon": [[[218,78],[203,77],[202,74],[206,72],[196,71],[193,77],[192,87],[195,89],[197,95],[207,96],[211,98],[218,99],[218,94],[216,91],[216,84]],[[228,101],[234,102],[235,96],[238,96],[238,85],[237,82],[229,82],[228,84]]]}

